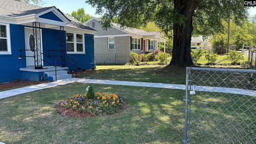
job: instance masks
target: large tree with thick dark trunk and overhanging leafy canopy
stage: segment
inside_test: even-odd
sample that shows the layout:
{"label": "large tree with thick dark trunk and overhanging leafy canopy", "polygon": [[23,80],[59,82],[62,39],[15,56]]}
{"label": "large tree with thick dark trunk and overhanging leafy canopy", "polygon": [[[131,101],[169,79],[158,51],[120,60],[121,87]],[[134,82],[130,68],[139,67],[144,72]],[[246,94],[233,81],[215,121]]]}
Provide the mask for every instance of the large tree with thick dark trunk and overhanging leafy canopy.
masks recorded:
{"label": "large tree with thick dark trunk and overhanging leafy canopy", "polygon": [[243,0],[86,0],[103,14],[102,26],[110,27],[113,17],[121,26],[138,27],[154,20],[166,35],[173,30],[170,65],[193,64],[190,42],[193,33],[208,36],[222,29],[230,15],[235,22],[246,18]]}

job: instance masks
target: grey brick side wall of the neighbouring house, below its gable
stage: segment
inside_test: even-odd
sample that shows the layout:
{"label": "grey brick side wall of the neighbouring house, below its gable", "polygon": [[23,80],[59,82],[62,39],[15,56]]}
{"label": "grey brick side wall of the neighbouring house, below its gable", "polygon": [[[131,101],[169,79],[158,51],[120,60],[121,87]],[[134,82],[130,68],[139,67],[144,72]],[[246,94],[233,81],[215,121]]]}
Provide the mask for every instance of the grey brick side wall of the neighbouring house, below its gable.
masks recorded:
{"label": "grey brick side wall of the neighbouring house, below its gable", "polygon": [[126,63],[130,58],[130,37],[115,37],[115,50],[108,50],[108,38],[94,38],[96,63]]}

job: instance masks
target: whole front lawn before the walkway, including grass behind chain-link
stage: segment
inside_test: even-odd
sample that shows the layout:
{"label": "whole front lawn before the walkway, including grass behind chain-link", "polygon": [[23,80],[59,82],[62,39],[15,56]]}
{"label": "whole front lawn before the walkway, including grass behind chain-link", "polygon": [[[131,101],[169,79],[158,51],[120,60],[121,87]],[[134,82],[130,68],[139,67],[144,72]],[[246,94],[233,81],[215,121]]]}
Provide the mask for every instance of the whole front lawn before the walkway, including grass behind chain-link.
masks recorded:
{"label": "whole front lawn before the walkway, including grass behind chain-link", "polygon": [[[185,91],[93,84],[95,91],[116,93],[124,98],[129,105],[127,109],[115,115],[89,118],[64,117],[55,112],[58,102],[84,93],[87,85],[73,83],[0,99],[0,141],[182,143]],[[197,94],[200,95],[193,96],[191,113],[192,119],[201,118],[201,121],[191,122],[191,143],[226,144],[234,133],[242,143],[254,138],[256,98],[248,101],[232,94]],[[241,127],[244,131],[237,133]]]}

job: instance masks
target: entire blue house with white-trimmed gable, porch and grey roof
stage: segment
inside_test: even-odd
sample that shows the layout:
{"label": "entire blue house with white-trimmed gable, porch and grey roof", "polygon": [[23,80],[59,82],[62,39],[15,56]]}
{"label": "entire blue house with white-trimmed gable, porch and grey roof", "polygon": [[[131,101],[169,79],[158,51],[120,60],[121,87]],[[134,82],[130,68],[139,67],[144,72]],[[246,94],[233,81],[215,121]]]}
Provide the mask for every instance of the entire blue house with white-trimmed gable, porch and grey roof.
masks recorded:
{"label": "entire blue house with white-trimmed gable, porch and grey roof", "polygon": [[1,0],[0,83],[55,81],[94,69],[95,32],[54,6]]}

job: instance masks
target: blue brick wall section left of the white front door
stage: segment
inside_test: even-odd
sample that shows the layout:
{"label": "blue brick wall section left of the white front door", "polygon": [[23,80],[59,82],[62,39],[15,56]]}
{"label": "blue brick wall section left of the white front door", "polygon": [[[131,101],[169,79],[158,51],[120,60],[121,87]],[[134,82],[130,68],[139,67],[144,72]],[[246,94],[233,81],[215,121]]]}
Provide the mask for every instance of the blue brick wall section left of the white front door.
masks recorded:
{"label": "blue brick wall section left of the white front door", "polygon": [[25,55],[25,51],[19,52],[25,49],[24,26],[10,24],[10,35],[12,54],[0,55],[0,83],[17,80],[21,77],[20,68],[26,67],[26,58],[18,59],[20,54]]}

